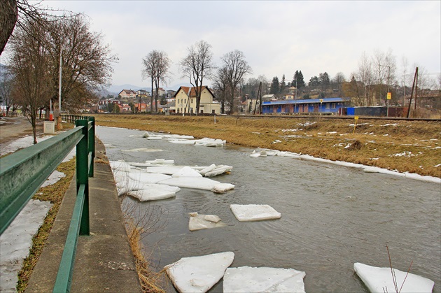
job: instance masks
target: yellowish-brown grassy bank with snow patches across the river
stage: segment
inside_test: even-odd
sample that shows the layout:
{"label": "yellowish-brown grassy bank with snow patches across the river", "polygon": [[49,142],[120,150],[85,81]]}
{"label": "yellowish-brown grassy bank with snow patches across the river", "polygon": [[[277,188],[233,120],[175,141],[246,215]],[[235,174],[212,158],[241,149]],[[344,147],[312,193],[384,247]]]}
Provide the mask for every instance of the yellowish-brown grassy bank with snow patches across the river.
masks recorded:
{"label": "yellowish-brown grassy bank with snow patches across the river", "polygon": [[96,115],[97,125],[220,138],[251,148],[271,148],[441,178],[441,123],[328,117]]}

